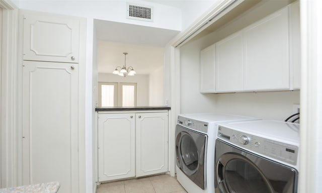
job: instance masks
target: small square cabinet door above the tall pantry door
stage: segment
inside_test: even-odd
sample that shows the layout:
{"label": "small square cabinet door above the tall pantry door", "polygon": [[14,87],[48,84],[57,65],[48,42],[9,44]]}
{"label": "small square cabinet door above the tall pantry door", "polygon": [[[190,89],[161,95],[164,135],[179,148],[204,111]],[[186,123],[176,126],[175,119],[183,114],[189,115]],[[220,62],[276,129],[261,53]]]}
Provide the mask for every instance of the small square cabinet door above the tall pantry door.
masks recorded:
{"label": "small square cabinet door above the tall pantry door", "polygon": [[78,63],[79,19],[24,15],[23,59]]}

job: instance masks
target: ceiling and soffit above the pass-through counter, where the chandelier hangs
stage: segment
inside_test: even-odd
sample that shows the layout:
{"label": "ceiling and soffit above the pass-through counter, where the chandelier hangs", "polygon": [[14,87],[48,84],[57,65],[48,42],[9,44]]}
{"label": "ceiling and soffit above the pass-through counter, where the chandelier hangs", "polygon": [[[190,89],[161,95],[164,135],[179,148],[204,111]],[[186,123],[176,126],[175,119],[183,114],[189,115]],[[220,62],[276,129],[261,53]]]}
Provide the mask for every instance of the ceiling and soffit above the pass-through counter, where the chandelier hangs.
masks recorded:
{"label": "ceiling and soffit above the pass-through counter, where the chandelier hangs", "polygon": [[95,20],[98,72],[112,73],[116,66],[133,66],[137,74],[150,74],[164,64],[164,48],[180,31]]}

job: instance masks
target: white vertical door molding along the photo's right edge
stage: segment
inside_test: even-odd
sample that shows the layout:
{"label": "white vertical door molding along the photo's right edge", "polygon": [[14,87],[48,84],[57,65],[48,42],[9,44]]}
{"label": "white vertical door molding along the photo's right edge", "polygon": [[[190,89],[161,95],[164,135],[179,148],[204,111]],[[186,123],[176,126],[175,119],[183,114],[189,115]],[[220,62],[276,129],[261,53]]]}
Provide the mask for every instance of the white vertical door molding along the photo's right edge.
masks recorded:
{"label": "white vertical door molding along the photo's right edge", "polygon": [[318,192],[321,178],[322,142],[322,4],[300,1],[301,22],[301,119],[300,168],[297,192]]}

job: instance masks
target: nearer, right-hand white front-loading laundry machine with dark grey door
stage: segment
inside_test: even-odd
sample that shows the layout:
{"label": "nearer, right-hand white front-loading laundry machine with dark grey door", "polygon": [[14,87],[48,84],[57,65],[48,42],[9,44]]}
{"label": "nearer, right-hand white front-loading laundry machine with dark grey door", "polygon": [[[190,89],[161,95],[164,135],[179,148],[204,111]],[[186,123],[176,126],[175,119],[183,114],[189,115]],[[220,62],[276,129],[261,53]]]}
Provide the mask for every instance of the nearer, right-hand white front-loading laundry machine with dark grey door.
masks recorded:
{"label": "nearer, right-hand white front-loading laundry machine with dark grey door", "polygon": [[299,124],[295,123],[220,123],[215,192],[297,192],[299,140]]}

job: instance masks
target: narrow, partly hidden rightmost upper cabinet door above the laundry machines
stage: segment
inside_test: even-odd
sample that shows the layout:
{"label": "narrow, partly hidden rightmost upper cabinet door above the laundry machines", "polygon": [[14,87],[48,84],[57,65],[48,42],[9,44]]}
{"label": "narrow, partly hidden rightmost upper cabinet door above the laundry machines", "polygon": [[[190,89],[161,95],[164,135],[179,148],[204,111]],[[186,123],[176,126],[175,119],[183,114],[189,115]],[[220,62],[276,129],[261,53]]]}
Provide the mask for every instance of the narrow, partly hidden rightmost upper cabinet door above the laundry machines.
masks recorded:
{"label": "narrow, partly hidden rightmost upper cabinet door above the laundry machines", "polygon": [[[290,63],[292,66],[291,82],[293,89],[301,87],[301,37],[300,37],[300,3],[290,5]],[[292,85],[292,84],[291,84]]]}

